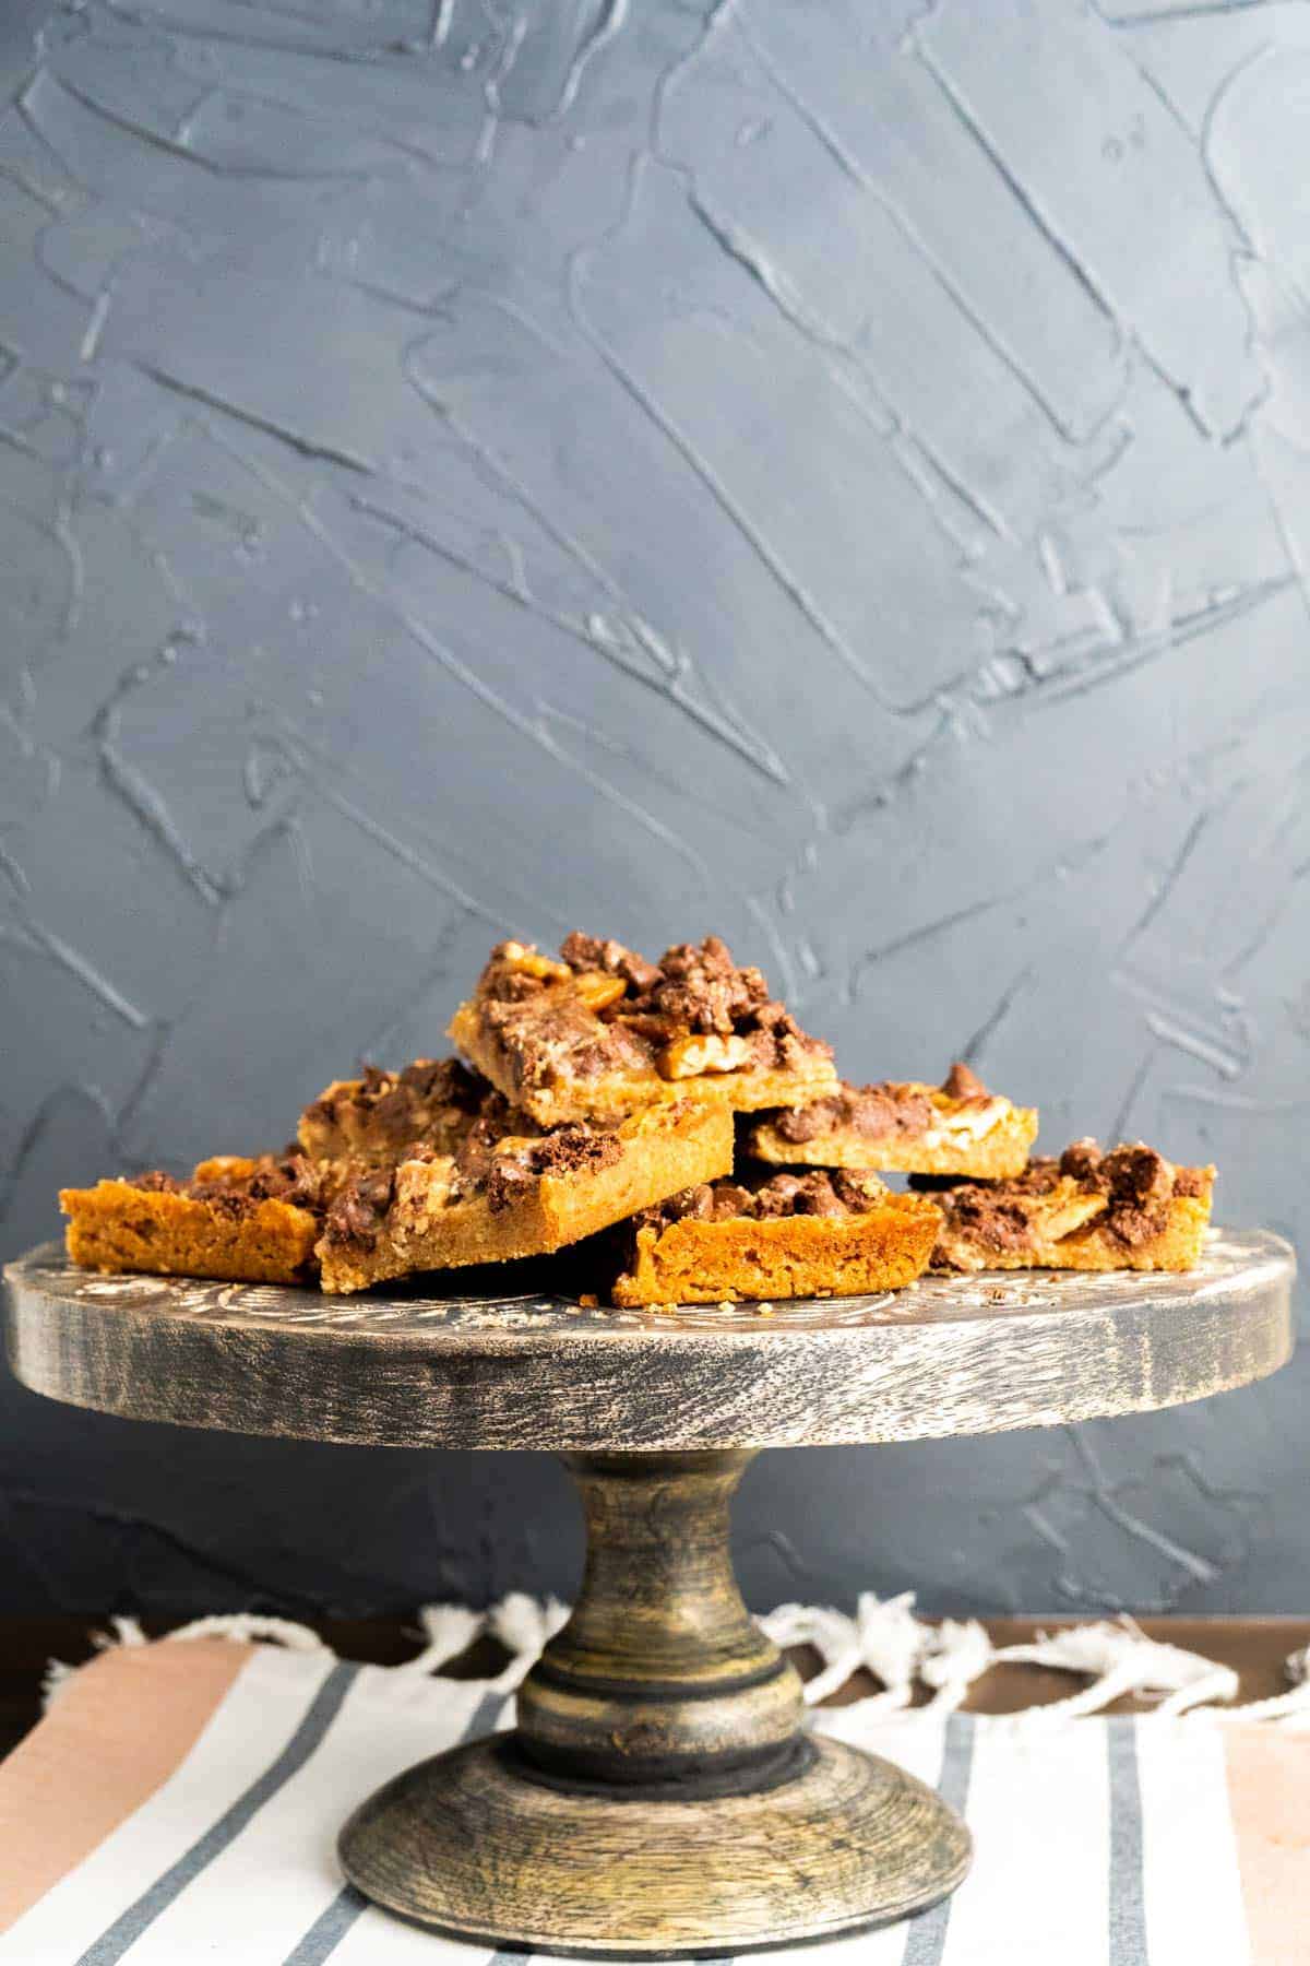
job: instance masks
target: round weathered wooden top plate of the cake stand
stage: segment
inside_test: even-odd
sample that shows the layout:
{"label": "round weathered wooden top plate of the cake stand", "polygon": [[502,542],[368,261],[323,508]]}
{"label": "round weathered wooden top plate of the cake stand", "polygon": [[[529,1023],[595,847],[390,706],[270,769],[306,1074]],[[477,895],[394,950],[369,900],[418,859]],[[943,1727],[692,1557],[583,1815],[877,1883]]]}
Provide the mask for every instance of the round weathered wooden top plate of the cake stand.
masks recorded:
{"label": "round weathered wooden top plate of the cake stand", "polygon": [[55,1243],[4,1274],[14,1372],[75,1406],[377,1447],[687,1451],[1200,1400],[1286,1362],[1294,1266],[1277,1235],[1216,1231],[1186,1276],[992,1272],[678,1313],[98,1276]]}

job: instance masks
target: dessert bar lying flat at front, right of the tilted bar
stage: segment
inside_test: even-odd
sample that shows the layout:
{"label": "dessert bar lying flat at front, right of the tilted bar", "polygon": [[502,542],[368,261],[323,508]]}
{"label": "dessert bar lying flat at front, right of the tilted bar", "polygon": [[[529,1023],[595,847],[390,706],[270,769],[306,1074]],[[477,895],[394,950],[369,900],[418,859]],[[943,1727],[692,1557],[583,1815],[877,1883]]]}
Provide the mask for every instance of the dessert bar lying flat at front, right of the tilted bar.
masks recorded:
{"label": "dessert bar lying flat at front, right of the tilted bar", "polygon": [[615,1303],[719,1303],[898,1290],[927,1268],[941,1217],[876,1174],[776,1174],[758,1187],[713,1182],[634,1223]]}

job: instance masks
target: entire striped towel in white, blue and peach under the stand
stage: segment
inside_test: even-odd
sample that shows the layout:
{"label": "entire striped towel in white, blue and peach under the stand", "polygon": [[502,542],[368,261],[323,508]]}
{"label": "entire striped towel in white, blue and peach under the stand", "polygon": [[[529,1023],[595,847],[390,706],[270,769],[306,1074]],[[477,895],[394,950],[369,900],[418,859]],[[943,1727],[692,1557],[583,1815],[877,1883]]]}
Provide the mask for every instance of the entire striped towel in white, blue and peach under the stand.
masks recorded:
{"label": "entire striped towel in white, blue and peach under the stand", "polygon": [[[344,1883],[342,1819],[513,1693],[198,1638],[82,1667],[0,1765],[0,1966],[483,1966]],[[1308,1966],[1310,1734],[888,1712],[815,1724],[970,1821],[953,1899],[795,1966]]]}

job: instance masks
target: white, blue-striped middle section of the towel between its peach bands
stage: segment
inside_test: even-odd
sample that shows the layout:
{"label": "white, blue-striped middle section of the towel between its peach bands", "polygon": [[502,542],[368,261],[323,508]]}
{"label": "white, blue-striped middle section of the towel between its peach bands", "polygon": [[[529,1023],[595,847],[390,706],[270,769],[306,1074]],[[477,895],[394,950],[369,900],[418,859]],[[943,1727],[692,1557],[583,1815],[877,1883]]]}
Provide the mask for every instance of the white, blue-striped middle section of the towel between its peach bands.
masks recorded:
{"label": "white, blue-striped middle section of the towel between its peach bands", "polygon": [[[0,1966],[483,1966],[499,1954],[367,1905],[334,1840],[389,1775],[511,1716],[487,1681],[249,1648],[167,1779],[0,1937]],[[937,1785],[976,1860],[933,1911],[778,1966],[1267,1966],[1218,1724],[858,1705],[815,1720]],[[1304,1944],[1310,1960],[1310,1919]]]}

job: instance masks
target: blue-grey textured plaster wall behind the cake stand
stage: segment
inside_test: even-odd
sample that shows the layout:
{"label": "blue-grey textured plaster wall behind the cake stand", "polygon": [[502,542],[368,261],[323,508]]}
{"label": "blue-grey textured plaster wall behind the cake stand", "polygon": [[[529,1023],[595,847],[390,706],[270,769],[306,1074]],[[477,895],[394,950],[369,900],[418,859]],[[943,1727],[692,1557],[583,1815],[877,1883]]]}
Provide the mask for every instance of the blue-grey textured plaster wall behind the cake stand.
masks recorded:
{"label": "blue-grey textured plaster wall behind the cake stand", "polygon": [[[1310,8],[0,8],[0,1231],[513,928],[1306,1223]],[[1310,1606],[1302,1351],[774,1455],[758,1602]],[[0,1388],[0,1604],[572,1585],[564,1476]]]}

